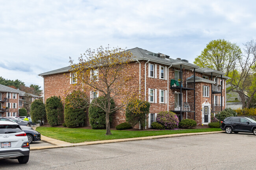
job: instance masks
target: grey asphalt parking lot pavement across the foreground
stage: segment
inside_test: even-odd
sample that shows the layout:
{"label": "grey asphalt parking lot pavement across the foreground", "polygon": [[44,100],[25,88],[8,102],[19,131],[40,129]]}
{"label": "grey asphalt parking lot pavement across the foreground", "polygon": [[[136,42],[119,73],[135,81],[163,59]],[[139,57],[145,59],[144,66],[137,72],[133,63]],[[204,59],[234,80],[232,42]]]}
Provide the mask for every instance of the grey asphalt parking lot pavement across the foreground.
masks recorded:
{"label": "grey asphalt parking lot pavement across the foreground", "polygon": [[30,160],[0,160],[1,170],[255,169],[256,136],[195,135],[31,151]]}

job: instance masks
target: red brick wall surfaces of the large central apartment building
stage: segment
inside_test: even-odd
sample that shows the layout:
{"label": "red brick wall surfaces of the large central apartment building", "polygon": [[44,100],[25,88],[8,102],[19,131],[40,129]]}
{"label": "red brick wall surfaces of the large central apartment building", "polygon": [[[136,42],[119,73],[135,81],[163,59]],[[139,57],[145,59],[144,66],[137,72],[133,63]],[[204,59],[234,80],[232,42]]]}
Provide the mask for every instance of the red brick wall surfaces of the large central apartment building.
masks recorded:
{"label": "red brick wall surfaces of the large central apartment building", "polygon": [[[159,64],[157,63],[152,63],[152,64],[156,64],[157,65],[157,77],[156,78],[150,78],[148,77],[148,64],[146,64],[146,69],[145,69],[145,62],[146,61],[141,61],[141,94],[142,96],[145,94],[146,91],[146,95],[148,95],[148,88],[152,88],[152,89],[157,89],[157,102],[156,103],[150,103],[150,113],[159,113],[161,111],[167,111],[168,110],[168,106],[167,104],[160,104],[159,103],[159,90],[168,90],[167,89],[167,84],[169,84],[171,78],[174,77],[174,69],[179,70],[178,68],[169,68],[169,82],[167,82],[167,80],[162,80],[159,79]],[[136,75],[136,79],[137,79],[137,85],[139,84],[139,63],[137,62],[133,62],[131,63],[131,68],[128,70],[126,70],[126,73],[135,73]],[[161,66],[165,66],[162,65]],[[167,66],[169,67],[169,66]],[[145,70],[146,70],[146,89],[145,89]],[[193,71],[191,70],[183,70],[183,79],[187,79],[188,77],[190,77],[191,75],[193,75]],[[195,73],[196,76],[198,77],[202,77],[201,73]],[[166,75],[167,76],[167,75]],[[207,75],[210,79],[210,76]],[[58,74],[54,74],[54,75],[47,75],[44,76],[44,87],[45,87],[45,99],[51,97],[51,96],[61,96],[63,98],[65,90],[68,90],[72,85],[70,84],[69,81],[69,73],[66,73],[65,75],[63,73],[58,73]],[[220,84],[220,83],[219,83]],[[202,97],[202,86],[210,86],[210,94],[209,97]],[[170,86],[169,86],[170,88]],[[174,93],[179,92],[178,89],[174,90],[174,89],[169,89],[169,110],[170,108],[170,102],[174,101]],[[193,102],[194,101],[194,91],[193,90],[188,90],[187,94],[186,91],[183,90],[183,101],[186,101],[187,98],[187,102]],[[219,94],[220,95],[220,94]],[[223,96],[225,97],[225,87],[223,89]],[[143,97],[144,99],[144,97]],[[202,103],[204,103],[205,101],[207,101],[211,104],[211,84],[210,83],[205,83],[205,82],[197,82],[195,84],[195,119],[197,121],[198,124],[202,123]],[[225,99],[224,99],[225,100]],[[146,101],[148,101],[148,96],[146,96]],[[116,103],[119,101],[115,101]],[[225,108],[225,106],[223,106],[223,109]],[[185,113],[183,114],[183,117],[185,117]],[[189,119],[194,119],[194,113],[188,113],[188,117]],[[113,115],[113,122],[111,124],[111,126],[116,126],[122,122],[125,122],[125,112],[124,111],[118,111]],[[88,117],[87,117],[88,120]],[[148,122],[148,120],[147,120]],[[87,124],[89,124],[89,122],[87,121]],[[138,128],[139,126],[136,125],[135,128]],[[148,126],[147,126],[148,128]]]}

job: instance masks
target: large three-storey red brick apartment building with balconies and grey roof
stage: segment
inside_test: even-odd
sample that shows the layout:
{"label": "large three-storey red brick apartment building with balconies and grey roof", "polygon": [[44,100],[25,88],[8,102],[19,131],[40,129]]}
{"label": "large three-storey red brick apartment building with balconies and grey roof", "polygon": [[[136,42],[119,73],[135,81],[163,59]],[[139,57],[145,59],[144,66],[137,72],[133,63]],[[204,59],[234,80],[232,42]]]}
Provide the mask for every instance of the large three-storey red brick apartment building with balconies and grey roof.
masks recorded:
{"label": "large three-storey red brick apartment building with balconies and grey roof", "polygon": [[[194,119],[197,124],[208,124],[211,113],[226,108],[225,73],[199,68],[180,58],[172,59],[161,53],[153,53],[141,48],[128,49],[133,55],[130,70],[138,77],[138,84],[145,91],[150,102],[150,114],[147,128],[155,121],[157,113],[173,111],[179,119]],[[61,96],[73,83],[69,75],[70,67],[41,73],[44,84],[44,101],[51,96]],[[97,93],[91,93],[95,98]],[[88,120],[88,119],[87,119]],[[125,113],[113,115],[111,126],[125,122]],[[88,124],[89,125],[89,124]]]}

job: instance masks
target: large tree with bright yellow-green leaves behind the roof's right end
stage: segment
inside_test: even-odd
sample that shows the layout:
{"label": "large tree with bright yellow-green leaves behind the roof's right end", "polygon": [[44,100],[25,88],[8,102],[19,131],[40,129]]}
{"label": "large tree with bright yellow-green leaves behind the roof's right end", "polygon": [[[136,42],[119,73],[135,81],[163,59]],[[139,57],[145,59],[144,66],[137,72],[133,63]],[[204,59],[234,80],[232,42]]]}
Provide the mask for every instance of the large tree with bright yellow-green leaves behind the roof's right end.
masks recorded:
{"label": "large tree with bright yellow-green leaves behind the roof's right end", "polygon": [[224,39],[212,40],[201,55],[195,58],[194,64],[208,67],[229,74],[235,68],[237,60],[241,58],[241,49],[235,43]]}

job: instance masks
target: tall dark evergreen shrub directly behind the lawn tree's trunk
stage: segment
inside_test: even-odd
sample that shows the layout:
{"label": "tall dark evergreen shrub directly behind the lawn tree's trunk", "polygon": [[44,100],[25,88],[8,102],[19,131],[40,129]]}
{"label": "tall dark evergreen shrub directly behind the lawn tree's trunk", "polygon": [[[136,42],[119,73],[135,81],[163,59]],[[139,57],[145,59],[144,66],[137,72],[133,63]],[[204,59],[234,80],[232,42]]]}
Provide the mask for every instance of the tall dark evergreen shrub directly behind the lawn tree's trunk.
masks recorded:
{"label": "tall dark evergreen shrub directly behind the lawn tree's trunk", "polygon": [[[104,110],[102,110],[100,107],[96,106],[94,104],[94,102],[98,103],[98,104],[102,104],[104,98],[103,97],[98,97],[96,99],[94,99],[91,104],[90,107],[88,109],[89,111],[89,122],[91,124],[91,128],[92,129],[99,129],[99,128],[106,128],[106,112],[104,112]],[[102,101],[102,102],[101,102]],[[115,107],[115,102],[113,99],[111,99],[111,109],[113,109]],[[102,104],[102,107],[103,104]],[[112,115],[113,112],[109,114],[109,123],[111,124],[112,122]]]}

